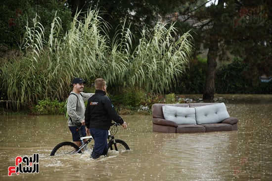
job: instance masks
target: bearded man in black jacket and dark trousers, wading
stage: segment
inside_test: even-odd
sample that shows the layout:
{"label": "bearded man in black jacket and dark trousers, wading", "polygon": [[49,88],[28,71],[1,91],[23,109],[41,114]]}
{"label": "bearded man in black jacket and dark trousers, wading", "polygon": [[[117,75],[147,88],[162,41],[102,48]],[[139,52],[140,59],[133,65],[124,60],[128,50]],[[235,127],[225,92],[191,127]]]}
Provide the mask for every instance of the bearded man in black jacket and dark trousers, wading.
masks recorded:
{"label": "bearded man in black jacket and dark trousers, wading", "polygon": [[87,134],[94,139],[94,147],[91,153],[93,159],[106,155],[108,152],[108,130],[111,120],[122,124],[127,128],[127,123],[120,117],[114,109],[111,100],[106,96],[107,85],[103,78],[94,81],[95,94],[88,100],[85,111],[85,125]]}

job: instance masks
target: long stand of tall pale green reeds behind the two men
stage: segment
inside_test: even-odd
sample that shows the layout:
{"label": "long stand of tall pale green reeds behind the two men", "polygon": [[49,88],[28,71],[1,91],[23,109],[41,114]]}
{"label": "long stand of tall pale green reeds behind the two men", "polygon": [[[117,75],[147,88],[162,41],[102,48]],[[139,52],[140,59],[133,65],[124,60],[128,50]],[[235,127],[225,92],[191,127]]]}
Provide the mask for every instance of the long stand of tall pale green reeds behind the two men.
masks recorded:
{"label": "long stand of tall pale green reeds behind the two men", "polygon": [[84,18],[76,15],[67,32],[55,17],[48,37],[39,16],[33,22],[33,27],[26,26],[19,54],[0,66],[1,102],[9,109],[29,108],[48,98],[63,102],[76,76],[87,82],[103,77],[113,94],[134,87],[163,93],[184,72],[192,49],[189,32],[179,37],[173,24],[157,23],[152,31],[143,28],[135,48],[125,26],[111,39],[110,25],[97,10]]}

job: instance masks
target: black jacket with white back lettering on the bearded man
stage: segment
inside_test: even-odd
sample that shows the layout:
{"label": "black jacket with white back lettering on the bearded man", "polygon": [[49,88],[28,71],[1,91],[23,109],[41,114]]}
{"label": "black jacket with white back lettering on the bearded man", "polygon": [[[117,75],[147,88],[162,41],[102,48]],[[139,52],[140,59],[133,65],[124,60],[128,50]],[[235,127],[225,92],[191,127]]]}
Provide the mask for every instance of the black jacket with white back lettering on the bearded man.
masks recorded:
{"label": "black jacket with white back lettering on the bearded man", "polygon": [[109,130],[111,120],[120,124],[124,123],[106,93],[102,90],[95,90],[95,94],[88,100],[85,125],[87,128]]}

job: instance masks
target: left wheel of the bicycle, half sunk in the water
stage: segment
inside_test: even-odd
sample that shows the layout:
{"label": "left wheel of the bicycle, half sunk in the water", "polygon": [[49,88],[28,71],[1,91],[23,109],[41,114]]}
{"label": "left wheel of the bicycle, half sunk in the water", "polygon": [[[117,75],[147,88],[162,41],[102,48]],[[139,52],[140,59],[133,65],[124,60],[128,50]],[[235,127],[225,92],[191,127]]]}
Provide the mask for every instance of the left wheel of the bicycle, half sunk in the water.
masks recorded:
{"label": "left wheel of the bicycle, half sunk in the water", "polygon": [[[63,155],[63,154],[75,154],[79,150],[79,147],[72,142],[62,142],[56,145],[51,151],[50,156]],[[79,151],[81,153],[81,151]]]}

